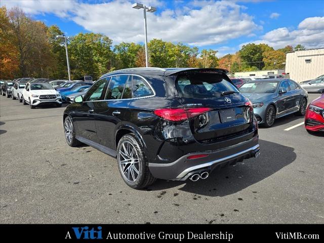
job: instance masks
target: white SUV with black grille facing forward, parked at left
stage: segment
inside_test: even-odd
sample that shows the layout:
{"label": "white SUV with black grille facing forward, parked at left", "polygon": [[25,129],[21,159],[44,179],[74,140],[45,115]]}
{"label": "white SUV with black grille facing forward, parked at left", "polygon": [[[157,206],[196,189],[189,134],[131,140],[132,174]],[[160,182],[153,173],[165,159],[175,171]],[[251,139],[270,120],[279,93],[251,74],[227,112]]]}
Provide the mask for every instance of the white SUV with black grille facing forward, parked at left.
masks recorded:
{"label": "white SUV with black grille facing forward, parked at left", "polygon": [[38,105],[55,104],[62,106],[62,98],[48,83],[27,83],[22,91],[22,102],[33,109]]}

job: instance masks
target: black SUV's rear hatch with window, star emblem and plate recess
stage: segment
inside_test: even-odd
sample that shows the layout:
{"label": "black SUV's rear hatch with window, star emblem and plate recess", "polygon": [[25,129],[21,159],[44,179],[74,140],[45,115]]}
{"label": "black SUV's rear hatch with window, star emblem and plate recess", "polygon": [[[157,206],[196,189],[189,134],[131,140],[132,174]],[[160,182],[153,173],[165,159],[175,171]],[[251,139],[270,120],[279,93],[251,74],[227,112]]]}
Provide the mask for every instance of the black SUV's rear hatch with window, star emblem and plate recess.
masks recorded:
{"label": "black SUV's rear hatch with window, star emblem and plate recess", "polygon": [[185,108],[209,108],[189,118],[198,142],[214,143],[251,132],[253,108],[224,73],[179,73],[176,88]]}

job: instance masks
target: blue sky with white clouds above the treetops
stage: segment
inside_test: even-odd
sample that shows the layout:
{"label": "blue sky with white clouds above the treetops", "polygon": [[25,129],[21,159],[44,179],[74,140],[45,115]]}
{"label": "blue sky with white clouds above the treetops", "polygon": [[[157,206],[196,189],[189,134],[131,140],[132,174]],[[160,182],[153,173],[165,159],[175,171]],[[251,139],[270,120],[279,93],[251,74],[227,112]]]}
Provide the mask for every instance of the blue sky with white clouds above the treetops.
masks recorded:
{"label": "blue sky with white clouds above the treetops", "polygon": [[[140,1],[140,0],[139,0]],[[95,32],[113,44],[144,42],[143,10],[135,1],[1,0],[8,9],[19,6],[28,16],[56,24],[66,35]],[[248,43],[274,49],[301,44],[324,48],[324,1],[158,1],[139,3],[157,9],[147,13],[148,40],[163,39],[191,47],[213,49],[218,57]]]}

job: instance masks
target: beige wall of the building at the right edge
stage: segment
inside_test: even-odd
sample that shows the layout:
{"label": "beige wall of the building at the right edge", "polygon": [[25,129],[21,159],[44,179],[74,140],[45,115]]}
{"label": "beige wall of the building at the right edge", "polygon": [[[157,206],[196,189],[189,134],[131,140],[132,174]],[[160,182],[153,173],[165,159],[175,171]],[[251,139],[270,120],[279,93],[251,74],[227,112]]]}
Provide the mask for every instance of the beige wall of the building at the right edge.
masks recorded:
{"label": "beige wall of the building at the right edge", "polygon": [[[306,63],[306,59],[311,59]],[[297,82],[324,74],[324,48],[287,53],[286,73]]]}

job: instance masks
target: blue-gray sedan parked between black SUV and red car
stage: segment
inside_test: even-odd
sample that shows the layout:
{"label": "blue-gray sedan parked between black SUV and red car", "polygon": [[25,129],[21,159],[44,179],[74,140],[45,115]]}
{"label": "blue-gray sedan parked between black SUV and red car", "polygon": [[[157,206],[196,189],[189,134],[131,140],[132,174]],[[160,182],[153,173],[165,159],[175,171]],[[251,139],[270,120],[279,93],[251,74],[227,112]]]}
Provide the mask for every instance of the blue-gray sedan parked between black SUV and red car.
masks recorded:
{"label": "blue-gray sedan parked between black SUV and red car", "polygon": [[307,91],[291,79],[263,79],[251,81],[239,91],[253,103],[259,124],[271,127],[276,118],[295,113],[304,115],[307,107]]}

